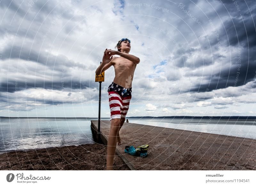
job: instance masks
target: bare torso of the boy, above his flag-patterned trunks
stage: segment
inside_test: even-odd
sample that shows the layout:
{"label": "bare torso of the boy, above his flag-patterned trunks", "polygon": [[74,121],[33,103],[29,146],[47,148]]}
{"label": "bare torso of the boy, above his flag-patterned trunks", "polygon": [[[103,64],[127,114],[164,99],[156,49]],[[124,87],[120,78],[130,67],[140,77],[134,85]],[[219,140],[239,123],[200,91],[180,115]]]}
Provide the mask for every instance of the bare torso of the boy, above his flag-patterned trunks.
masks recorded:
{"label": "bare torso of the boy, above his flag-patterned trunks", "polygon": [[123,57],[115,57],[112,62],[115,68],[115,78],[113,82],[124,88],[131,88],[136,64]]}

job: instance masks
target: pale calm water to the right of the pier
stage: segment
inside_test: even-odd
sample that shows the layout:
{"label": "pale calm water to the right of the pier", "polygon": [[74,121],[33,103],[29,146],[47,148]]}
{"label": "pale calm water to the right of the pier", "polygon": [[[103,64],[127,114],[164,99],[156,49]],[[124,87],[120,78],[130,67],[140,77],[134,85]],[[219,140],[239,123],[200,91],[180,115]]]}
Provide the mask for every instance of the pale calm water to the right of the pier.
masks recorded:
{"label": "pale calm water to the right of the pier", "polygon": [[255,119],[129,119],[131,123],[256,139]]}

